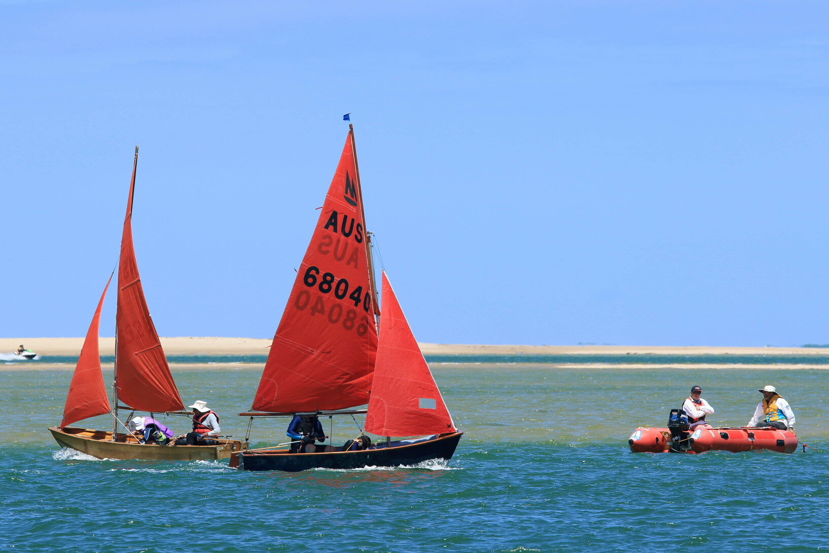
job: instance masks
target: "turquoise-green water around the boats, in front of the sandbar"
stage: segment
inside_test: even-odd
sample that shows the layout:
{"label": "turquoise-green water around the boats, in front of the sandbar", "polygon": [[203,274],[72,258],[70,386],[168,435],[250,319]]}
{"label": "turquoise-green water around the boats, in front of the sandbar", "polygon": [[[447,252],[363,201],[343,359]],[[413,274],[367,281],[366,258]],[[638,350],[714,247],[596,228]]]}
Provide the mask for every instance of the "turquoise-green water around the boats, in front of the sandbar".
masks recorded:
{"label": "turquoise-green water around the boats, in front of the sandbar", "polygon": [[[226,463],[99,461],[61,451],[70,371],[2,371],[0,546],[12,551],[829,551],[829,385],[822,369],[434,365],[467,434],[448,465],[244,473]],[[244,434],[259,371],[176,371]],[[744,424],[773,384],[816,449],[631,454],[692,385]],[[185,421],[171,419],[173,429]],[[104,418],[90,426],[108,427]],[[281,441],[285,421],[255,426]],[[328,425],[326,423],[326,428]],[[334,426],[334,441],[356,430]]]}

